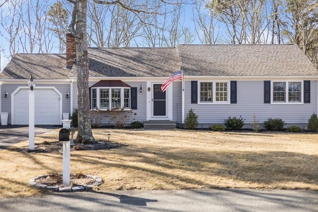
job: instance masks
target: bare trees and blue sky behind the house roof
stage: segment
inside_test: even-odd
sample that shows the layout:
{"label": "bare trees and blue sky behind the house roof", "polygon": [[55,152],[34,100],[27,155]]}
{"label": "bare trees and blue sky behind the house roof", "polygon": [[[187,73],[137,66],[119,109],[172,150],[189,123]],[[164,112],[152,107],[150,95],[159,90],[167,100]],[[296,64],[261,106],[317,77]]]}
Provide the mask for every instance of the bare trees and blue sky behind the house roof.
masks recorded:
{"label": "bare trees and blue sky behind the house roof", "polygon": [[[122,1],[135,10],[88,1],[88,46],[296,43],[318,66],[317,0],[174,0],[171,4],[161,0]],[[136,12],[145,7],[156,8],[157,12]],[[72,8],[67,0],[3,2],[2,57],[64,53]]]}

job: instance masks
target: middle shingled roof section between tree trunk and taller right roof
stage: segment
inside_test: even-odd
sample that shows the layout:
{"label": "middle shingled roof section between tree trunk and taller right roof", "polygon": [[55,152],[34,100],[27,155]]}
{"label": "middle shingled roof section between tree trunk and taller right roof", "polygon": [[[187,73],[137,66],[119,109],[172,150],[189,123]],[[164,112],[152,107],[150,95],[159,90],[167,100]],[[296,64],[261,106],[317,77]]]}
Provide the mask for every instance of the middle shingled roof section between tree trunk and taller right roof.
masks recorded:
{"label": "middle shingled roof section between tree trunk and taller right roof", "polygon": [[175,48],[89,48],[89,76],[169,76],[180,70]]}

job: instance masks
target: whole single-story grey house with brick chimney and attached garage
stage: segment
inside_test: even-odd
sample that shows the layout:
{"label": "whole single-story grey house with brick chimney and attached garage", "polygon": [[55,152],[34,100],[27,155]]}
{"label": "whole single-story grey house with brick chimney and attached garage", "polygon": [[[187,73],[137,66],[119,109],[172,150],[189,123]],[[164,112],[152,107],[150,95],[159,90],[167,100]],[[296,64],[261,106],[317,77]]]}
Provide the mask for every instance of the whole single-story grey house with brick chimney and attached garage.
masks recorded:
{"label": "whole single-story grey house with brick chimney and attached garage", "polygon": [[[66,54],[17,54],[0,72],[0,112],[28,124],[33,76],[35,124],[61,125],[78,105],[76,46]],[[182,123],[192,108],[199,128],[242,116],[250,124],[281,118],[306,128],[318,112],[318,70],[297,45],[178,45],[176,48],[89,48],[90,107],[132,109],[148,126]],[[183,81],[164,80],[183,70]],[[106,112],[105,112],[106,113]],[[132,122],[131,120],[130,122]],[[161,121],[161,122],[160,122]],[[101,124],[113,124],[103,117]],[[127,123],[129,124],[129,123]],[[248,127],[248,126],[245,127]]]}

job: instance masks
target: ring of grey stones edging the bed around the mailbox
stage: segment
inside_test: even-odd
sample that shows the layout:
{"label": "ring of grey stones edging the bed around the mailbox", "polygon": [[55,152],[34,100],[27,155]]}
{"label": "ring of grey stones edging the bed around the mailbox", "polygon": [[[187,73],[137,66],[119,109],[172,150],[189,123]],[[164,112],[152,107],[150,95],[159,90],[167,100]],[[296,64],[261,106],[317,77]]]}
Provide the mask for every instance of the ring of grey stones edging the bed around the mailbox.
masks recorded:
{"label": "ring of grey stones edging the bed around the mailbox", "polygon": [[[73,174],[71,174],[72,176]],[[35,181],[43,178],[43,177],[47,177],[49,176],[49,174],[47,175],[39,175],[36,176],[34,178],[32,178],[29,181],[30,186],[34,186],[43,190],[49,190],[49,191],[54,191],[54,192],[80,192],[80,191],[91,191],[93,187],[95,186],[99,186],[103,183],[103,180],[96,175],[88,175],[86,174],[85,177],[87,178],[92,178],[95,180],[95,183],[91,184],[91,185],[85,185],[85,186],[48,186],[45,184],[40,184],[40,183],[36,183]]]}

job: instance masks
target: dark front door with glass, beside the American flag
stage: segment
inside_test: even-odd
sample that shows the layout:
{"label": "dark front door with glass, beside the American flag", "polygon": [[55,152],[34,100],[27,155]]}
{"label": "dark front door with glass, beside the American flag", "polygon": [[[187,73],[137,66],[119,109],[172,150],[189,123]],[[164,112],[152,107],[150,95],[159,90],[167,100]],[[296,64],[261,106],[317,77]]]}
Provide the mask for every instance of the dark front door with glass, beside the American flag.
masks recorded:
{"label": "dark front door with glass, beside the American flag", "polygon": [[153,114],[165,116],[165,91],[161,91],[161,84],[154,84]]}

